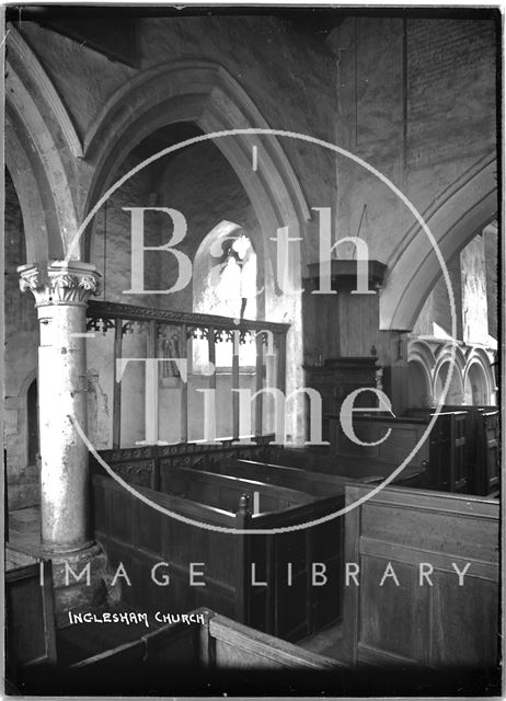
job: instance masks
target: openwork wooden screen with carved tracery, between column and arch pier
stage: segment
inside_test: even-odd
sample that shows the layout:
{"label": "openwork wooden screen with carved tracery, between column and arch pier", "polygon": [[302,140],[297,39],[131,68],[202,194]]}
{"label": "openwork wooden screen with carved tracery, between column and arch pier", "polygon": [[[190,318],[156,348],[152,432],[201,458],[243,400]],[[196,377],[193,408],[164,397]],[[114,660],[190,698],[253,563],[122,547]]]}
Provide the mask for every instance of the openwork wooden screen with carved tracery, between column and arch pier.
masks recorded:
{"label": "openwork wooden screen with carved tracery, between column and arch pier", "polygon": [[[100,301],[89,303],[88,318],[94,446],[212,444],[273,432],[266,391],[285,392],[288,324]],[[241,404],[241,390],[250,403]]]}

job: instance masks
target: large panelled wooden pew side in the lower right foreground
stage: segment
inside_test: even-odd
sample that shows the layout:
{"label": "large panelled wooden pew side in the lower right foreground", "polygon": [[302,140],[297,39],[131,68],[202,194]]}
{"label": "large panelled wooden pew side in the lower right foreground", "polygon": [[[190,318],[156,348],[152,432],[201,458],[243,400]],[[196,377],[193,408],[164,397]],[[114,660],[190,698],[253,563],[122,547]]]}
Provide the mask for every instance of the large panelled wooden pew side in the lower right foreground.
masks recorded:
{"label": "large panelled wooden pew side in the lower right foreground", "polygon": [[[346,487],[346,503],[368,493]],[[494,669],[498,652],[498,518],[493,499],[386,487],[346,514],[344,595],[350,664]],[[389,576],[379,586],[388,563]],[[434,567],[419,585],[421,563]],[[460,571],[470,563],[463,585]]]}

